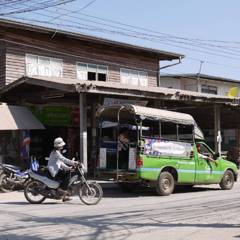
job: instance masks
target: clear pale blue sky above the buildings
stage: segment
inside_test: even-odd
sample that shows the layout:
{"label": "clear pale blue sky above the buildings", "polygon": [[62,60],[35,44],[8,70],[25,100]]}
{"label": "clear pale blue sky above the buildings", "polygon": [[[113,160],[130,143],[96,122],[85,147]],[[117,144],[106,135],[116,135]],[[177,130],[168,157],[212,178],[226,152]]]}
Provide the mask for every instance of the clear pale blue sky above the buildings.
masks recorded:
{"label": "clear pale blue sky above the buildings", "polygon": [[239,0],[77,0],[11,18],[185,55],[162,74],[198,73],[202,61],[201,73],[240,80],[239,9]]}

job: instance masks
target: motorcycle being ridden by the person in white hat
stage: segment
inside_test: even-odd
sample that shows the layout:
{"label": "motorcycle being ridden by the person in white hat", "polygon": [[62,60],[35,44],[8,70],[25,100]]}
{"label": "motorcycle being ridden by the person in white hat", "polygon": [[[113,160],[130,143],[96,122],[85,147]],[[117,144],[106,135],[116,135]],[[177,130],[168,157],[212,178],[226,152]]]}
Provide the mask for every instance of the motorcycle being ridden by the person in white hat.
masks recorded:
{"label": "motorcycle being ridden by the person in white hat", "polygon": [[[59,189],[60,182],[50,179],[46,173],[29,171],[29,176],[30,181],[24,189],[24,196],[29,203],[40,204],[47,198],[62,199],[63,193]],[[98,183],[86,180],[84,165],[81,163],[69,172],[67,191],[70,196],[77,191],[80,200],[86,205],[97,204],[103,195],[102,187]]]}

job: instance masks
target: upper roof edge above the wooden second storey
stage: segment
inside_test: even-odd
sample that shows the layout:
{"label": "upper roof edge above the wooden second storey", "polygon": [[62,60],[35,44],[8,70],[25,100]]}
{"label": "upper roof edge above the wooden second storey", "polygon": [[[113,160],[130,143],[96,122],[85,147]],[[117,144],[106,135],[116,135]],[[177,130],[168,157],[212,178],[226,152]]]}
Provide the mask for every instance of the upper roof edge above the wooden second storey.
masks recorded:
{"label": "upper roof edge above the wooden second storey", "polygon": [[184,58],[184,55],[179,53],[162,51],[158,49],[147,48],[147,47],[132,45],[132,44],[123,43],[123,42],[117,42],[114,40],[104,39],[96,36],[84,35],[76,32],[64,31],[61,29],[49,28],[45,26],[27,24],[23,22],[8,20],[8,19],[0,18],[0,26],[6,26],[9,28],[17,28],[17,29],[25,29],[33,32],[42,32],[42,33],[51,34],[51,35],[54,34],[55,36],[65,35],[67,37],[75,38],[77,40],[84,40],[88,42],[94,42],[94,43],[105,44],[113,47],[119,47],[119,48],[127,49],[130,51],[139,51],[142,53],[153,54],[155,55],[155,57],[158,57],[159,60],[173,60],[173,59]]}

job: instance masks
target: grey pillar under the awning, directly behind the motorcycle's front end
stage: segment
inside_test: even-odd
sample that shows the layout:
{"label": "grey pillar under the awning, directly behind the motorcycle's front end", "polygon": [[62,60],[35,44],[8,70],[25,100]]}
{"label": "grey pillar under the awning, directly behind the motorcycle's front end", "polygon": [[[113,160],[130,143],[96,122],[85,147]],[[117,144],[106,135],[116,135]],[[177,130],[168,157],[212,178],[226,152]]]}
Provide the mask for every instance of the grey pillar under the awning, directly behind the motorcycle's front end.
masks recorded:
{"label": "grey pillar under the awning, directly behind the motorcycle's front end", "polygon": [[88,170],[87,161],[87,106],[86,93],[79,93],[79,115],[80,115],[80,160]]}

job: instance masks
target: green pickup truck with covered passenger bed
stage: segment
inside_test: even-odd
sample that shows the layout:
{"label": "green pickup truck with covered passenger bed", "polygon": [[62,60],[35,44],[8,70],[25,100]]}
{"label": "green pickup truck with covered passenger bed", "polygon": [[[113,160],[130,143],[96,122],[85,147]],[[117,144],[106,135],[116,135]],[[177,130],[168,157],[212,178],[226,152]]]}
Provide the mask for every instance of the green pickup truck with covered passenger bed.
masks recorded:
{"label": "green pickup truck with covered passenger bed", "polygon": [[176,185],[229,190],[237,181],[237,166],[204,143],[189,114],[126,104],[102,107],[97,116],[99,173],[121,186],[145,183],[169,195]]}

